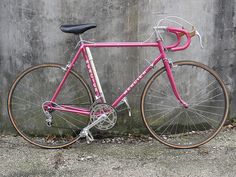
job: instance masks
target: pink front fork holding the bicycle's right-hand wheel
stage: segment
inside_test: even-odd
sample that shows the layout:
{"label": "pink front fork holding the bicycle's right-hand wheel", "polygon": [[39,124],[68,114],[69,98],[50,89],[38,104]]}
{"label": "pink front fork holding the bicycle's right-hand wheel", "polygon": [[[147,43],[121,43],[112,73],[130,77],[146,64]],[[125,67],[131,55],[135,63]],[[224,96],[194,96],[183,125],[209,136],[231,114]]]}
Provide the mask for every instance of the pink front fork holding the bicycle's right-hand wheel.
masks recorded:
{"label": "pink front fork holding the bicycle's right-hand wheel", "polygon": [[170,61],[166,57],[163,59],[163,64],[165,66],[165,69],[166,69],[166,72],[167,72],[167,76],[169,78],[170,85],[171,85],[171,88],[173,90],[173,93],[174,93],[176,99],[179,101],[180,104],[182,104],[184,106],[184,108],[188,108],[189,107],[188,103],[186,103],[181,98],[181,96],[179,94],[179,91],[177,89],[177,86],[175,84],[174,76],[173,76],[173,73],[172,73],[172,70],[171,70],[171,68],[173,67],[173,64],[170,63]]}

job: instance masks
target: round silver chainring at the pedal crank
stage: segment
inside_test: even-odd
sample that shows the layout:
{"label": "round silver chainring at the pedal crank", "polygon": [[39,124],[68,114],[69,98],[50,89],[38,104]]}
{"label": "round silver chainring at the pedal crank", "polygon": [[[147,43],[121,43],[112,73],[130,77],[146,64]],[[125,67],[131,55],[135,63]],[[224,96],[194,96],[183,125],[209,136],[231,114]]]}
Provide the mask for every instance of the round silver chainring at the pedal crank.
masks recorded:
{"label": "round silver chainring at the pedal crank", "polygon": [[112,106],[104,103],[96,104],[92,107],[90,111],[90,121],[93,122],[104,114],[107,116],[107,118],[95,125],[95,127],[99,130],[111,129],[112,127],[114,127],[117,121],[117,114],[115,109]]}

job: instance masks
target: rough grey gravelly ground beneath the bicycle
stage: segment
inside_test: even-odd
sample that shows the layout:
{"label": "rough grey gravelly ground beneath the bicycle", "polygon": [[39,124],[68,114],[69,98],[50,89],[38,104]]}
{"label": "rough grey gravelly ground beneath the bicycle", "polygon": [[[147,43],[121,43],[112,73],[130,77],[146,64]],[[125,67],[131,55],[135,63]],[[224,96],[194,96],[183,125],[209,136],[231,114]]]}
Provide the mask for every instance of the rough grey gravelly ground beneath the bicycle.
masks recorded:
{"label": "rough grey gravelly ground beneath the bicycle", "polygon": [[107,138],[47,150],[21,137],[0,137],[0,176],[236,176],[236,129],[194,149],[172,149],[151,137]]}

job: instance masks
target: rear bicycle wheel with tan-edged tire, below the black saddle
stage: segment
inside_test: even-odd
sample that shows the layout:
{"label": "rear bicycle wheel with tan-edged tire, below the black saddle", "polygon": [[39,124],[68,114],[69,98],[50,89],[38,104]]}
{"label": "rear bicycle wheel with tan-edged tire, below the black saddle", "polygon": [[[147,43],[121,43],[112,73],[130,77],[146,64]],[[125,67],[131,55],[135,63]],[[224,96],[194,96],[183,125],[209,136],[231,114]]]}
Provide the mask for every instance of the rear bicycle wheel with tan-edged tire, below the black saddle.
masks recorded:
{"label": "rear bicycle wheel with tan-edged tire, below the black saddle", "polygon": [[[54,110],[51,113],[52,126],[47,126],[42,104],[52,98],[64,75],[65,71],[60,64],[41,64],[23,71],[10,88],[7,103],[10,120],[16,131],[36,146],[69,146],[79,138],[80,130],[89,123],[89,117]],[[89,108],[93,96],[82,76],[71,71],[56,101],[58,105]]]}

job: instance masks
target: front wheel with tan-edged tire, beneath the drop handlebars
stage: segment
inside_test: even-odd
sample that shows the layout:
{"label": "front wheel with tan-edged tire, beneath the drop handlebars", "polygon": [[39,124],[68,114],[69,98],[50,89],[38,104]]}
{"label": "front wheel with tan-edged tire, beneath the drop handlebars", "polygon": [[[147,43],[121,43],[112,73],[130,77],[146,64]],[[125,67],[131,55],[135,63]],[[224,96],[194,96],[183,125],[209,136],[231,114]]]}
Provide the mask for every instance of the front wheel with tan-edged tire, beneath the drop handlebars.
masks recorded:
{"label": "front wheel with tan-edged tire, beneath the drop handlebars", "polygon": [[175,98],[165,68],[147,82],[141,113],[150,133],[174,148],[193,148],[211,140],[223,126],[229,109],[226,87],[209,67],[180,61],[172,67],[184,108]]}

